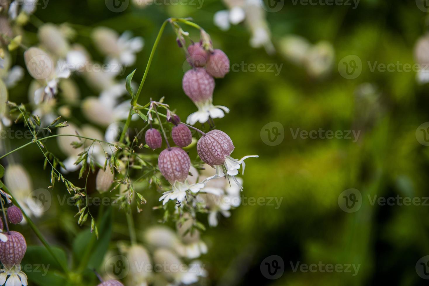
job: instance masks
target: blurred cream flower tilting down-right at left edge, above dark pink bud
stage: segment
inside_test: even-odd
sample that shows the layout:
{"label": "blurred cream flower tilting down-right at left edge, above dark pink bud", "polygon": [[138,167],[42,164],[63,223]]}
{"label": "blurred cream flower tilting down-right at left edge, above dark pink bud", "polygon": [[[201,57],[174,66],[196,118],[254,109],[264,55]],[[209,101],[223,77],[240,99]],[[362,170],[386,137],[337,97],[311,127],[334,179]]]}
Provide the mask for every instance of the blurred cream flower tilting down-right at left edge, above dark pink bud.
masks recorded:
{"label": "blurred cream flower tilting down-right at left edge, above dark pink bud", "polygon": [[43,212],[40,212],[40,206],[36,206],[36,202],[28,198],[33,191],[33,183],[21,164],[11,164],[6,167],[4,183],[28,216],[40,217],[42,215]]}

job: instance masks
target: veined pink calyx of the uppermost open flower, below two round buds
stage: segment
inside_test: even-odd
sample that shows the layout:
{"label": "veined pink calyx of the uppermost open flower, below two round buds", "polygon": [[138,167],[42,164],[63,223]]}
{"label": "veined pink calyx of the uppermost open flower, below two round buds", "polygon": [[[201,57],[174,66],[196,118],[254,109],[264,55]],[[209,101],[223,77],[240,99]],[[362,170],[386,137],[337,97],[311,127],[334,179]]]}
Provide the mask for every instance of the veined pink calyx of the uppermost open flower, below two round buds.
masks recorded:
{"label": "veined pink calyx of the uppermost open flower, below two round buds", "polygon": [[206,101],[213,95],[215,80],[203,68],[190,69],[183,76],[182,87],[192,101]]}

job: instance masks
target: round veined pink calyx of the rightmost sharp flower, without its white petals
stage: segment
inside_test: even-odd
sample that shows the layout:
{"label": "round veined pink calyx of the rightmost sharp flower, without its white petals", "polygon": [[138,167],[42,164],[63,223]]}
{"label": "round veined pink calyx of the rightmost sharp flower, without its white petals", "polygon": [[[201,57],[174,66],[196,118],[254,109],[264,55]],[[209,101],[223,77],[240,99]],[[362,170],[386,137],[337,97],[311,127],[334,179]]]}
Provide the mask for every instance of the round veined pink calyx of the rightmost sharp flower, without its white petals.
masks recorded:
{"label": "round veined pink calyx of the rightmost sharp flower, without its white petals", "polygon": [[220,130],[208,131],[196,144],[199,158],[210,166],[222,165],[225,158],[234,151],[231,138]]}

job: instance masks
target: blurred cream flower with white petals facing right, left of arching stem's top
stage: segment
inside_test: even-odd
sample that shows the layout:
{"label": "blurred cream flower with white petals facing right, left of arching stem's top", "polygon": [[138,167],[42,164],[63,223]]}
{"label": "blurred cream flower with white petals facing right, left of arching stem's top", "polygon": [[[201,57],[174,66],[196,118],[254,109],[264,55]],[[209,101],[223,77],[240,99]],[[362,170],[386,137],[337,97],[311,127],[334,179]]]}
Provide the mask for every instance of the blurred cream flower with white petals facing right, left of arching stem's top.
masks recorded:
{"label": "blurred cream flower with white petals facing right, left of arching stem's top", "polygon": [[115,30],[97,27],[92,36],[97,48],[108,57],[109,63],[121,63],[125,66],[136,62],[136,53],[141,51],[144,45],[143,38],[132,38],[130,31],[119,36]]}

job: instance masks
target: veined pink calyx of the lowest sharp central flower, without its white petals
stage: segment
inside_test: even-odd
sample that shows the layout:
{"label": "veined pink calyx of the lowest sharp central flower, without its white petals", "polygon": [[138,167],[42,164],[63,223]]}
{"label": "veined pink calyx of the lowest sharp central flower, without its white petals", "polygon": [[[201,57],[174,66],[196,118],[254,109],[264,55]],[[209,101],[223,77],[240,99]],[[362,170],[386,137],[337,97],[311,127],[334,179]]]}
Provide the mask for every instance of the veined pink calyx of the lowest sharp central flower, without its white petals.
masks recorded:
{"label": "veined pink calyx of the lowest sharp central flower, without its white petals", "polygon": [[189,155],[179,147],[165,149],[158,157],[158,168],[171,184],[184,182],[190,169]]}

